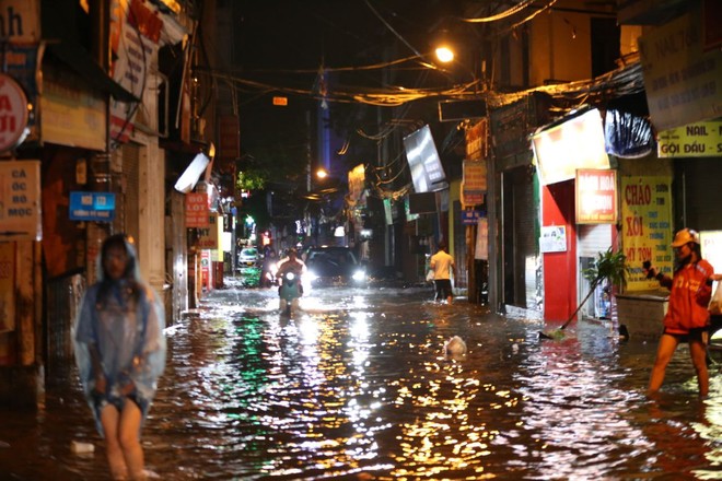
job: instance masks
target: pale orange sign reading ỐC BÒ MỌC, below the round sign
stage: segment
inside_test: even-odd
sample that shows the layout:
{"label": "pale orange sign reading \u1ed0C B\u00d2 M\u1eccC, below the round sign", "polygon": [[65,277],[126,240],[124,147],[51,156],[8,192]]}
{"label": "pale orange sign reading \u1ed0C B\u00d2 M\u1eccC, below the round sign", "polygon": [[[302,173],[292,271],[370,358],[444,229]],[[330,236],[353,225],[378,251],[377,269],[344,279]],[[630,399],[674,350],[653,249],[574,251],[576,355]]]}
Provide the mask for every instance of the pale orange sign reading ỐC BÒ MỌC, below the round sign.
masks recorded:
{"label": "pale orange sign reading \u1ed0C B\u00d2 M\u1eccC, below the round sign", "polygon": [[39,241],[40,161],[0,162],[0,241]]}

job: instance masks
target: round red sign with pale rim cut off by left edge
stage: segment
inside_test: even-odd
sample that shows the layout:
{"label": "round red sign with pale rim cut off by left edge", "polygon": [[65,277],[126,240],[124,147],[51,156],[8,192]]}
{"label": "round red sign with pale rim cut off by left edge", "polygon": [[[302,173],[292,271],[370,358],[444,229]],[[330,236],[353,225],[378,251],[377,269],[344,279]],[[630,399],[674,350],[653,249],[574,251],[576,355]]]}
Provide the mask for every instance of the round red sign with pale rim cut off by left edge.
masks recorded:
{"label": "round red sign with pale rim cut off by left edge", "polygon": [[15,80],[0,73],[0,152],[22,142],[27,133],[27,96]]}

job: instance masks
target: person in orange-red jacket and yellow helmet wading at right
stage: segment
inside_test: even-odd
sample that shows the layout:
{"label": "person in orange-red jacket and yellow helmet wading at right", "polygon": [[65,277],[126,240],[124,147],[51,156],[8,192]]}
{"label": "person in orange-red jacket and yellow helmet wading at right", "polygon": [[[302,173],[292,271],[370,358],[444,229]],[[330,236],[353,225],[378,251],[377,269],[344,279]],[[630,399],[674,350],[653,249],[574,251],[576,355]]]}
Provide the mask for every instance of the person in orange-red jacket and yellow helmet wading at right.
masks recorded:
{"label": "person in orange-red jacket and yellow helmet wading at right", "polygon": [[712,296],[712,281],[722,279],[702,259],[699,234],[691,228],[677,232],[672,242],[677,263],[673,275],[665,275],[656,268],[649,267],[647,274],[654,277],[660,284],[669,289],[667,314],[664,316],[664,331],[660,339],[656,359],[652,367],[648,396],[654,396],[664,382],[664,374],[680,342],[689,343],[689,353],[695,371],[699,395],[709,391],[707,372],[707,342],[709,337],[710,313],[707,309]]}

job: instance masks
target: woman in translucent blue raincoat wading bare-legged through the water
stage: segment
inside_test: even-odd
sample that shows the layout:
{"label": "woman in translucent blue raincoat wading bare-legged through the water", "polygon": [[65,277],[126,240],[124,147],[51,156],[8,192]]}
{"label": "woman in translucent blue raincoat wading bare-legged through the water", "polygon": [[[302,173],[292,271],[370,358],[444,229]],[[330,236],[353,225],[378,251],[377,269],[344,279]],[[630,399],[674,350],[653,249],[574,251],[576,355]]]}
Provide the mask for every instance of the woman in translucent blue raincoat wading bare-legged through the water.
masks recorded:
{"label": "woman in translucent blue raincoat wading bare-legged through the water", "polygon": [[165,366],[163,304],[141,280],[125,235],[103,243],[97,279],[75,321],[80,380],[105,438],[113,479],[145,479],[140,430]]}

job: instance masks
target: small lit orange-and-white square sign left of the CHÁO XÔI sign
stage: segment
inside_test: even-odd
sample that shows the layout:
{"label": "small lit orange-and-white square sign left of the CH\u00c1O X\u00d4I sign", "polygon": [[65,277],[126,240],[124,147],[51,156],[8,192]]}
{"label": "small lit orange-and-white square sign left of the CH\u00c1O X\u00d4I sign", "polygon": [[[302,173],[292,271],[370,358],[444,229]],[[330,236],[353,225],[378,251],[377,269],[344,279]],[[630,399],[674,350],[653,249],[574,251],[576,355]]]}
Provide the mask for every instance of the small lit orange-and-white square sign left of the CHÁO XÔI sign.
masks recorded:
{"label": "small lit orange-and-white square sign left of the CH\u00c1O X\u00d4I sign", "polygon": [[577,171],[577,223],[617,223],[617,172]]}

